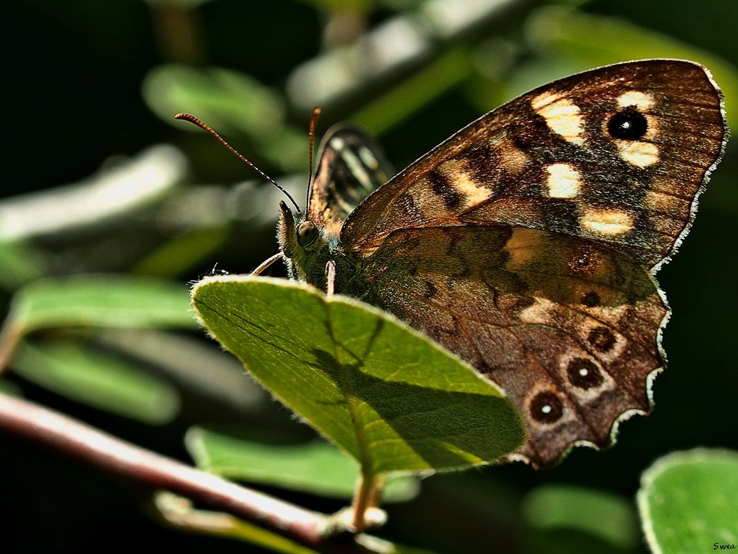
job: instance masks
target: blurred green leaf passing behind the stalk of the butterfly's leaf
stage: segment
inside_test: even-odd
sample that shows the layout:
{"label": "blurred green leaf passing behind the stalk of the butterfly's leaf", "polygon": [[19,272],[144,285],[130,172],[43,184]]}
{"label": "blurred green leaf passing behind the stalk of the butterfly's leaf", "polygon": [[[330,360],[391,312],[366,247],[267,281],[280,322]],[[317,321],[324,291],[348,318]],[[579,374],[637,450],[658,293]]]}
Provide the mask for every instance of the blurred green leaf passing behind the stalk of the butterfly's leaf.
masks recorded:
{"label": "blurred green leaf passing behind the stalk of the butterfly's leaf", "polygon": [[[228,479],[350,499],[359,476],[353,459],[322,440],[274,445],[196,427],[187,431],[185,444],[200,469]],[[393,479],[382,497],[400,502],[418,490],[415,479]]]}

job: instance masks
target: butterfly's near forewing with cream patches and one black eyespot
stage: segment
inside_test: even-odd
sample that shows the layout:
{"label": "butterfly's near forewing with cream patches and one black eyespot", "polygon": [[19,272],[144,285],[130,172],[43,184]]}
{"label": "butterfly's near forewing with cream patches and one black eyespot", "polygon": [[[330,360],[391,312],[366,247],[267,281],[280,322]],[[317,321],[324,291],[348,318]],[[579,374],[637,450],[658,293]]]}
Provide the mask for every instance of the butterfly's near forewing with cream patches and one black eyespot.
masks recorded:
{"label": "butterfly's near forewing with cream patches and one black eyespot", "polygon": [[724,134],[701,66],[595,69],[511,100],[433,148],[351,214],[342,241],[369,253],[396,229],[504,224],[601,240],[654,266],[689,227]]}

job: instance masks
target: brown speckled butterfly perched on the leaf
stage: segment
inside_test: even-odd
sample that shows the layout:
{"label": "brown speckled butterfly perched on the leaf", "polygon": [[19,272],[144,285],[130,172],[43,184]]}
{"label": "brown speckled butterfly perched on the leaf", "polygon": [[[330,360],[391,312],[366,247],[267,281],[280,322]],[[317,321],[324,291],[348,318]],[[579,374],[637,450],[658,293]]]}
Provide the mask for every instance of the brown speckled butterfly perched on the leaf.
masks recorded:
{"label": "brown speckled butterfly perched on the leaf", "polygon": [[669,316],[654,275],[726,137],[707,70],[674,60],[534,89],[384,184],[378,149],[341,126],[323,140],[307,214],[281,204],[281,257],[292,277],[393,312],[500,384],[528,426],[513,457],[548,465],[649,411]]}

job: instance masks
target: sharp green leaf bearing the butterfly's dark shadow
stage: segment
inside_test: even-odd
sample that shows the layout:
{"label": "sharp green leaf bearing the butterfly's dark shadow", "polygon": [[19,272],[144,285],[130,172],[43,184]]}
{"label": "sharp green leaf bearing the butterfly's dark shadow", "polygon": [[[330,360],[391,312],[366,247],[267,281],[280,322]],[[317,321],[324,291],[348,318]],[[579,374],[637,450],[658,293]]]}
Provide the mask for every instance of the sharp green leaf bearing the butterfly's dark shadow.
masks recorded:
{"label": "sharp green leaf bearing the butterfly's dark shadow", "polygon": [[206,278],[193,304],[213,336],[364,476],[468,467],[523,442],[499,389],[367,304],[257,276]]}

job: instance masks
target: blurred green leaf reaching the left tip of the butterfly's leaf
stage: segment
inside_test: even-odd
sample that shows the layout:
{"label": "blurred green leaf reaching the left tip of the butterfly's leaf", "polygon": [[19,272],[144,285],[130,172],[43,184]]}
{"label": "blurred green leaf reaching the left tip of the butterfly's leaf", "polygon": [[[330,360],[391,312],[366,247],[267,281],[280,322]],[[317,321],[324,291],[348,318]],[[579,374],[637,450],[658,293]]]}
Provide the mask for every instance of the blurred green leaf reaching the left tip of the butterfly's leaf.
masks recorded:
{"label": "blurred green leaf reaching the left tip of the butterfly's leaf", "polygon": [[153,278],[77,276],[35,281],[13,298],[8,326],[195,328],[182,284]]}

